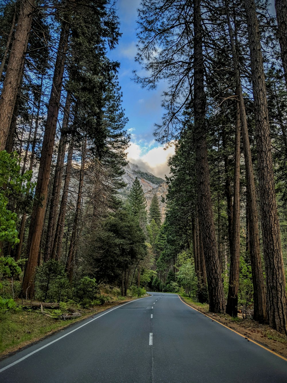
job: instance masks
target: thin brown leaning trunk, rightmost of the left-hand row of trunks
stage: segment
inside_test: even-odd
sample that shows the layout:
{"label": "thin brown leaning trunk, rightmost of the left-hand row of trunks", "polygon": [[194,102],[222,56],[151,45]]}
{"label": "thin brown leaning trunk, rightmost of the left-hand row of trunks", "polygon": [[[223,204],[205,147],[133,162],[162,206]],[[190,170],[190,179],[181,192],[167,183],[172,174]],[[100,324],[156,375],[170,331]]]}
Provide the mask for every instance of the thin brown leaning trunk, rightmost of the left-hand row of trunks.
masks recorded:
{"label": "thin brown leaning trunk, rightmost of the left-hand row of trunks", "polygon": [[85,156],[86,156],[86,138],[83,142],[82,147],[82,162],[81,162],[81,169],[80,169],[80,180],[79,180],[79,188],[78,188],[78,196],[77,196],[77,203],[76,203],[76,211],[75,211],[75,217],[73,222],[73,230],[72,235],[70,239],[70,246],[69,246],[69,252],[68,252],[68,258],[66,263],[65,272],[68,275],[69,282],[72,284],[73,280],[73,269],[75,264],[75,254],[76,254],[76,248],[77,248],[77,238],[78,238],[78,225],[79,225],[79,216],[81,211],[81,202],[82,202],[82,189],[83,189],[83,182],[84,182],[84,171],[85,171]]}

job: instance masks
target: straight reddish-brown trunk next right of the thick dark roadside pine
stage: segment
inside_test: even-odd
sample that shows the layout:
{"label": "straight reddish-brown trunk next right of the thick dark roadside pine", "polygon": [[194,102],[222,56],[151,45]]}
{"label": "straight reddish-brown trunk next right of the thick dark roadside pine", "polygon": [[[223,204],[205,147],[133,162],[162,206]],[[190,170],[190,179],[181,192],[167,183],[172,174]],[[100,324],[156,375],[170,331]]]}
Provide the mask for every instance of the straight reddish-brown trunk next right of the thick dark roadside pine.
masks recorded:
{"label": "straight reddish-brown trunk next right of the thick dark roadside pine", "polygon": [[240,260],[240,110],[236,103],[232,248],[226,313],[237,317]]}

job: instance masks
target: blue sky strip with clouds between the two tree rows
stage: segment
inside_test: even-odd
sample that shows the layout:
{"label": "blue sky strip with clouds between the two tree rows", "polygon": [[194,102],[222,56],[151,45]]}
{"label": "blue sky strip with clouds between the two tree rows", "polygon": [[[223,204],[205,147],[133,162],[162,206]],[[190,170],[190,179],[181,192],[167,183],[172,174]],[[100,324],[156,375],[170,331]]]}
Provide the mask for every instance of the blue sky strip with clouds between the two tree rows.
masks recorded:
{"label": "blue sky strip with clouds between the two tree rows", "polygon": [[129,118],[126,129],[131,135],[127,159],[157,177],[164,178],[169,173],[167,160],[174,154],[174,147],[164,150],[164,146],[153,137],[154,124],[161,123],[163,115],[163,84],[156,90],[148,91],[132,80],[133,70],[142,72],[140,65],[134,60],[137,53],[136,20],[139,6],[140,0],[117,0],[122,37],[116,49],[109,52],[109,58],[121,63],[118,77],[123,93],[122,107]]}

